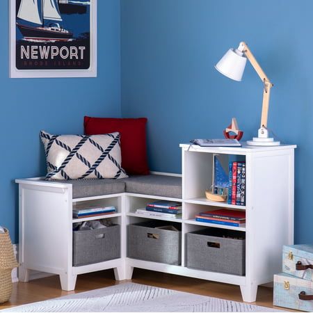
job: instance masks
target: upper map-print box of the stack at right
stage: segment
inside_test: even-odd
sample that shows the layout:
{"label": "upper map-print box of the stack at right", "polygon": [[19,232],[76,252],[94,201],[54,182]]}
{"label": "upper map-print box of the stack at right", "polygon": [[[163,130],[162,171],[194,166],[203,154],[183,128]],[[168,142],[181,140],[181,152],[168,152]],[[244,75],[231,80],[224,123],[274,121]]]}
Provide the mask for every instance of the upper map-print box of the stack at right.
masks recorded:
{"label": "upper map-print box of the stack at right", "polygon": [[284,246],[282,271],[313,282],[313,245]]}

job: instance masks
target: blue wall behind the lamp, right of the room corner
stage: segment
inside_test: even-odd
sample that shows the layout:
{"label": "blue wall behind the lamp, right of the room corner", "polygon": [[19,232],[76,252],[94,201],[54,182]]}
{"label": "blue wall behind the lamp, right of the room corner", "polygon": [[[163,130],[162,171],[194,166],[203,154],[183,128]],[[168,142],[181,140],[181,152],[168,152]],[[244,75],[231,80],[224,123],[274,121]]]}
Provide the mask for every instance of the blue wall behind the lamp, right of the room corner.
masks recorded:
{"label": "blue wall behind the lamp, right of the room corner", "polygon": [[[296,143],[296,242],[313,241],[312,0],[122,0],[122,115],[146,116],[152,170],[180,172],[179,143],[220,138],[235,116],[257,135],[262,83],[248,64],[242,83],[214,70],[248,43],[275,84],[268,127]],[[287,225],[286,225],[287,227]]]}

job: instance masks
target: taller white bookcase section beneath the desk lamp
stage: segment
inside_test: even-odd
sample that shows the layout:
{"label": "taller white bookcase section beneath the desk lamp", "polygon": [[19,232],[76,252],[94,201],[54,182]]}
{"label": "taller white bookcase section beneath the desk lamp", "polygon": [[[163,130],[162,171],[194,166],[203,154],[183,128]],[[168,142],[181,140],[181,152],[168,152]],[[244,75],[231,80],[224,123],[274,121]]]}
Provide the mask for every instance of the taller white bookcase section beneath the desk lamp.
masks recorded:
{"label": "taller white bookcase section beneath the desk lamp", "polygon": [[[246,275],[205,273],[205,279],[238,284],[243,300],[253,302],[259,284],[273,281],[281,271],[282,246],[294,242],[294,149],[278,147],[182,147],[183,233],[200,227],[219,227],[246,232]],[[204,191],[212,183],[213,155],[225,162],[246,161],[246,205],[211,202]],[[245,227],[200,223],[196,213],[223,207],[246,211]],[[185,236],[182,237],[183,264]],[[204,278],[202,277],[202,278]]]}

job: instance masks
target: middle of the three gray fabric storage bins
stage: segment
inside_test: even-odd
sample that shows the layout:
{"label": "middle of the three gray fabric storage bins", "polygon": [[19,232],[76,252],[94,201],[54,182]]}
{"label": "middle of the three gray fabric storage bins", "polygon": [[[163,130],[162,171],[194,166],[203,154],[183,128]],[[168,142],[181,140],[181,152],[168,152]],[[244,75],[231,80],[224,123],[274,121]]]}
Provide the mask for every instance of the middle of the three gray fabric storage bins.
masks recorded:
{"label": "middle of the three gray fabric storage bins", "polygon": [[[179,230],[155,227],[172,225]],[[182,260],[182,232],[179,223],[152,220],[128,225],[127,255],[134,259],[180,265]]]}

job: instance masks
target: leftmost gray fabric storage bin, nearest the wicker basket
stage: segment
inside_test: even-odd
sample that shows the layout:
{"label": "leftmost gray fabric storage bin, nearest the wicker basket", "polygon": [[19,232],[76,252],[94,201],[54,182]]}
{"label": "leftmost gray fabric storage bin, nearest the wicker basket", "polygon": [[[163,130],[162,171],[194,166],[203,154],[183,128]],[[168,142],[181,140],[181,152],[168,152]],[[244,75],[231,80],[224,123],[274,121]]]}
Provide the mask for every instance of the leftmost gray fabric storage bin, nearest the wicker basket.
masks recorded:
{"label": "leftmost gray fabric storage bin, nearest the wicker basket", "polygon": [[120,225],[73,232],[73,266],[118,259]]}

